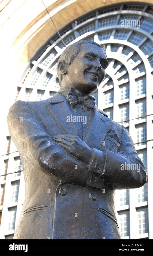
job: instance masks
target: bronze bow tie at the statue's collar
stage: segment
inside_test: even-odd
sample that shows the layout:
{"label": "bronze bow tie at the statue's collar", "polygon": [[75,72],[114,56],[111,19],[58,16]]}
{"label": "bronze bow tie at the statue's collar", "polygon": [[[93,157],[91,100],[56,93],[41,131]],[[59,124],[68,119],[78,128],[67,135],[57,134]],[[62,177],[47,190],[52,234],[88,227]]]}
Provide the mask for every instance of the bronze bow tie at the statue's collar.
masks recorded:
{"label": "bronze bow tie at the statue's collar", "polygon": [[68,94],[66,98],[71,106],[81,103],[87,108],[94,109],[95,107],[95,98],[92,96],[77,97],[74,94]]}

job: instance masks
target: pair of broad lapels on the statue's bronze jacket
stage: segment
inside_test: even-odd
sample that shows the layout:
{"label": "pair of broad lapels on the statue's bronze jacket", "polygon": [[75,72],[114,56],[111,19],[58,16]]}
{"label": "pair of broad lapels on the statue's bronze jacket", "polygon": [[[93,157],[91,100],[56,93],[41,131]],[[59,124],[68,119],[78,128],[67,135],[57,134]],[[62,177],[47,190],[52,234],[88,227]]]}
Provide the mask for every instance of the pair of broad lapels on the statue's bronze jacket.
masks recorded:
{"label": "pair of broad lapels on the statue's bronze jacket", "polygon": [[94,111],[90,115],[86,133],[82,137],[82,131],[79,124],[77,122],[67,122],[67,117],[71,117],[71,115],[74,114],[65,96],[60,93],[56,93],[54,97],[48,99],[46,107],[60,128],[60,134],[58,135],[77,135],[80,139],[86,142],[89,147],[105,149],[103,141],[112,121],[107,118],[105,112],[95,107]]}

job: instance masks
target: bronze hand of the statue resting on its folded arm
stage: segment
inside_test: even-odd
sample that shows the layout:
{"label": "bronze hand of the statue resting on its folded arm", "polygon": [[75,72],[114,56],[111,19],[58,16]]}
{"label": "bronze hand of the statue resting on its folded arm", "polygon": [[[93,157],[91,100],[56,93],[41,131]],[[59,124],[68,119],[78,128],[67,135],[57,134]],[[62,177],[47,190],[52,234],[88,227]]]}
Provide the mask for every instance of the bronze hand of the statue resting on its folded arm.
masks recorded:
{"label": "bronze hand of the statue resting on its folded arm", "polygon": [[92,158],[92,149],[78,136],[73,136],[70,134],[53,136],[53,140],[64,147],[65,150],[76,156],[78,159],[90,163]]}

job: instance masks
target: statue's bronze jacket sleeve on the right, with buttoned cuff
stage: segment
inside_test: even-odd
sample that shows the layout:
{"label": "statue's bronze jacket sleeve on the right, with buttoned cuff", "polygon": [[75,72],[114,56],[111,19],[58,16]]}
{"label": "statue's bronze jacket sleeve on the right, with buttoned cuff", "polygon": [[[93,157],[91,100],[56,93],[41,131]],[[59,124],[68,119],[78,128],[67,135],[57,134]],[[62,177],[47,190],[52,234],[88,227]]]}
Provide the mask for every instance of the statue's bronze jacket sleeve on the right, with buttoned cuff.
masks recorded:
{"label": "statue's bronze jacket sleeve on the right, with buttoned cuff", "polygon": [[131,136],[122,125],[122,145],[118,153],[93,149],[90,171],[112,189],[138,188],[146,183],[145,167]]}

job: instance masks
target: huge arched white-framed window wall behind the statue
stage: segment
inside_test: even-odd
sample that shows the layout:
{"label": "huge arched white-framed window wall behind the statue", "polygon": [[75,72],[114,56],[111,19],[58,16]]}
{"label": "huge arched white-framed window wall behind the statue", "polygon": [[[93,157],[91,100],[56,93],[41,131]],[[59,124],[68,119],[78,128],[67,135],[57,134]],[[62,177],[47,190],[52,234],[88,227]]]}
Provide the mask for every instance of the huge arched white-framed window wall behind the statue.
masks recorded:
{"label": "huge arched white-framed window wall behind the statue", "polygon": [[[90,39],[105,49],[109,66],[104,81],[93,95],[99,109],[127,128],[146,168],[147,183],[143,187],[115,191],[122,239],[153,239],[152,18],[153,6],[149,3],[107,3],[79,15],[59,30],[66,45]],[[60,88],[56,65],[63,50],[61,38],[53,33],[27,63],[14,87],[14,101],[42,100],[56,94]],[[3,148],[0,238],[12,239],[24,203],[24,177],[18,151],[8,131]]]}

